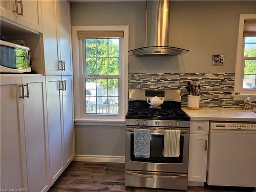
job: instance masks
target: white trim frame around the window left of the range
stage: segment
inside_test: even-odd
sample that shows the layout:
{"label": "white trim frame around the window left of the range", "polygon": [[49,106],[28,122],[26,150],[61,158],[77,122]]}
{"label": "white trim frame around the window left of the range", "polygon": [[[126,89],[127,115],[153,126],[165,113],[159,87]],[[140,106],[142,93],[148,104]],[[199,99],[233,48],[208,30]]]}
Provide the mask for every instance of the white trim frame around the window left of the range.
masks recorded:
{"label": "white trim frame around the window left of the range", "polygon": [[[77,37],[78,31],[123,31],[123,82],[119,85],[122,91],[119,93],[122,102],[119,103],[120,115],[83,115],[83,79],[82,61],[79,59],[81,47]],[[73,56],[73,74],[74,74],[74,106],[75,122],[79,125],[113,125],[120,126],[125,124],[125,113],[127,111],[128,101],[128,50],[129,50],[129,26],[72,26],[72,56]],[[80,54],[79,54],[80,53]]]}

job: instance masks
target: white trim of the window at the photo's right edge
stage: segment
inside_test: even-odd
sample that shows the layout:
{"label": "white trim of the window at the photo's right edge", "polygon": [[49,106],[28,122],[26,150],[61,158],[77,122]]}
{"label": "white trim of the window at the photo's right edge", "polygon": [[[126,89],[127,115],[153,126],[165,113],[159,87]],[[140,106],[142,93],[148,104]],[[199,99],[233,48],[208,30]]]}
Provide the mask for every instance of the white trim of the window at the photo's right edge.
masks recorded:
{"label": "white trim of the window at the photo's right edge", "polygon": [[[256,19],[256,14],[241,14],[239,19],[239,31],[238,31],[238,48],[236,59],[236,73],[234,77],[234,93],[232,94],[234,100],[245,100],[247,97],[251,97],[251,100],[256,100],[256,90],[244,90],[243,89],[243,75],[244,75],[244,20]],[[235,93],[240,93],[236,95]]]}

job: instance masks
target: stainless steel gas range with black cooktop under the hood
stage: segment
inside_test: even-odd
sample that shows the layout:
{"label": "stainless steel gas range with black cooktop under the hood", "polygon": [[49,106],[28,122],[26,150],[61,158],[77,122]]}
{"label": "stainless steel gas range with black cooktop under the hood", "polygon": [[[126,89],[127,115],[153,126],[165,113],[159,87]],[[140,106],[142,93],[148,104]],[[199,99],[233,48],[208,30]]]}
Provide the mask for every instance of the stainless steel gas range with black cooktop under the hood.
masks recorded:
{"label": "stainless steel gas range with black cooktop under the hood", "polygon": [[[161,108],[152,109],[148,97],[165,98]],[[187,189],[190,118],[181,110],[180,90],[129,91],[125,116],[125,186]],[[149,129],[150,158],[134,155],[134,130]],[[164,157],[164,130],[179,129],[179,157]]]}

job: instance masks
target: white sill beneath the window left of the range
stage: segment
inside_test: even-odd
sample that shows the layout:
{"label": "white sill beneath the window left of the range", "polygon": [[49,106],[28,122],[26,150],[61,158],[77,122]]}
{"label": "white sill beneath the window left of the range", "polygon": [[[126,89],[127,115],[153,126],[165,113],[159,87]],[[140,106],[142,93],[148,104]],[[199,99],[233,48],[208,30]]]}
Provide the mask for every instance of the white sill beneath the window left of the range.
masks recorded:
{"label": "white sill beneath the window left of the range", "polygon": [[75,125],[125,126],[125,120],[75,119]]}

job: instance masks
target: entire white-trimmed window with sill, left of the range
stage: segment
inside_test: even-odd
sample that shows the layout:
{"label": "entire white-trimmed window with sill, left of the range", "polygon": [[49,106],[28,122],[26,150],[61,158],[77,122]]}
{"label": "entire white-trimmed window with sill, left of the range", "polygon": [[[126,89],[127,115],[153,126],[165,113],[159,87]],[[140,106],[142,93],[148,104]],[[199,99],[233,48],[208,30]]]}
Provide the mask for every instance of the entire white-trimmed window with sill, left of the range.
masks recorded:
{"label": "entire white-trimmed window with sill, left of the range", "polygon": [[124,124],[128,32],[128,26],[72,26],[76,124]]}

